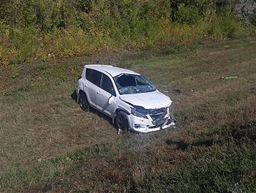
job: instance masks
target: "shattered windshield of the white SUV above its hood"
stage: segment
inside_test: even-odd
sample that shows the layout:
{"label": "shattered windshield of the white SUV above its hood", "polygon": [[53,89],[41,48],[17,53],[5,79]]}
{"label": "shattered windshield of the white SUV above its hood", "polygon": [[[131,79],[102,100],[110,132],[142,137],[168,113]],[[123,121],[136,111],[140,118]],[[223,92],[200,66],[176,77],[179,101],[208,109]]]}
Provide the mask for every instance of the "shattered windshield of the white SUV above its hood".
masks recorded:
{"label": "shattered windshield of the white SUV above its hood", "polygon": [[120,94],[148,93],[156,90],[153,84],[141,75],[121,74],[114,77],[114,82]]}

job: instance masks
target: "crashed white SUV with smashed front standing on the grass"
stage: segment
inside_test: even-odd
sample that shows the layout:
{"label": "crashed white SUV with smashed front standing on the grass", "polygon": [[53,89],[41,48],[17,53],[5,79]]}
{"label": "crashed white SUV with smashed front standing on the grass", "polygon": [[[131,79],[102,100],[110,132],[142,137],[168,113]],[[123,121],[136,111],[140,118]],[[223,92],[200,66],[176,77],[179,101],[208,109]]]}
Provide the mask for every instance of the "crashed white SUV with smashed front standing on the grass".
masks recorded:
{"label": "crashed white SUV with smashed front standing on the grass", "polygon": [[80,107],[95,108],[111,117],[119,130],[151,132],[175,125],[172,101],[149,79],[128,69],[86,65],[76,85]]}

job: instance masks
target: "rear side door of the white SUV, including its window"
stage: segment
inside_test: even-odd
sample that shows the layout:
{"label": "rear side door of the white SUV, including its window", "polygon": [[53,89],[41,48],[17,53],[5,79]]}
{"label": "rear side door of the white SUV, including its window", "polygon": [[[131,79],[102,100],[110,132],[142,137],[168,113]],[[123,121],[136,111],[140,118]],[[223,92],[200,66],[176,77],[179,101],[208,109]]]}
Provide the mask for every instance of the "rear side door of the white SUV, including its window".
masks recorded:
{"label": "rear side door of the white SUV, including its window", "polygon": [[96,93],[100,88],[102,73],[95,69],[86,68],[86,84],[84,90],[86,90],[87,99],[91,106],[97,108]]}

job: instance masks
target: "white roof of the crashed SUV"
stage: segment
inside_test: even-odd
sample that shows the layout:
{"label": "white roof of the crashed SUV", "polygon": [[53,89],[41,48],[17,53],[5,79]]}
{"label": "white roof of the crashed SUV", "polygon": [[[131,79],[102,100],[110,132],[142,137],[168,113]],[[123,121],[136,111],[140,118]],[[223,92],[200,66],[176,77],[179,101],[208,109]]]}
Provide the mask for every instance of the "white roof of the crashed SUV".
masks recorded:
{"label": "white roof of the crashed SUV", "polygon": [[118,76],[119,74],[136,74],[140,75],[137,72],[130,71],[129,69],[119,68],[116,66],[111,65],[85,65],[85,68],[91,68],[91,69],[100,69],[102,71],[105,71],[109,73],[112,77]]}

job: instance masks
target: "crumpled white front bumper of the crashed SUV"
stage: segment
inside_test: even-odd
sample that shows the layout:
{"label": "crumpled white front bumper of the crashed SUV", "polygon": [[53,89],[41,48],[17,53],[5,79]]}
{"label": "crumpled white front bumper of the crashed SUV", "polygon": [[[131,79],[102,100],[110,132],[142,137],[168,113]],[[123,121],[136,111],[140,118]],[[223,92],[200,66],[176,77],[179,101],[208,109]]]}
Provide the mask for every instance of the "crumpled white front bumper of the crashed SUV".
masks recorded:
{"label": "crumpled white front bumper of the crashed SUV", "polygon": [[[155,126],[151,119],[145,119],[142,117],[134,116],[132,114],[128,115],[129,121],[129,128],[130,130],[141,132],[141,133],[148,133],[153,131],[164,130],[165,128],[169,128],[170,126],[174,126],[175,122],[171,119],[169,114],[166,114],[164,117],[164,124],[159,126]],[[135,127],[135,125],[140,125],[140,127]]]}

